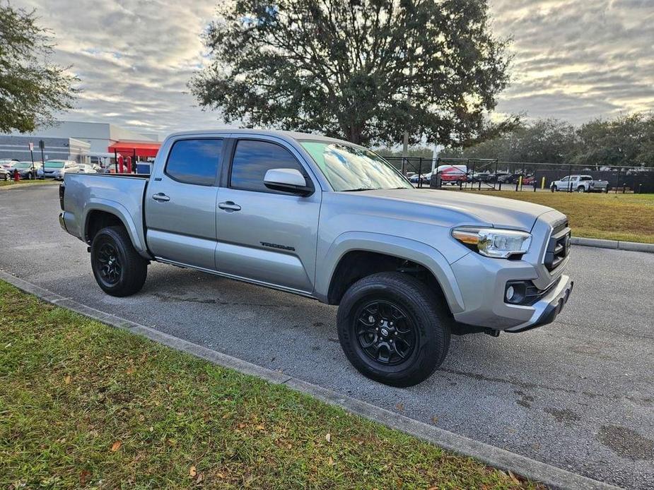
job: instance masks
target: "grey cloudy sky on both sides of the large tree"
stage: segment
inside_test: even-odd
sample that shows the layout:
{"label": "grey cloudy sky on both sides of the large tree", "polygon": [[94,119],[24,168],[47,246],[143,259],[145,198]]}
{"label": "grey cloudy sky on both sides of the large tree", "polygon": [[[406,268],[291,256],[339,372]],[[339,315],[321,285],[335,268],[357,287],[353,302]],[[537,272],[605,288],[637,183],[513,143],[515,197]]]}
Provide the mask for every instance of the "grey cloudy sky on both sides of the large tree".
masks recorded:
{"label": "grey cloudy sky on both sides of the large tree", "polygon": [[[56,59],[83,92],[63,119],[162,136],[220,126],[186,83],[203,63],[199,39],[222,0],[12,0],[56,33]],[[512,36],[512,84],[498,112],[578,124],[654,109],[654,0],[489,0],[494,29]]]}

